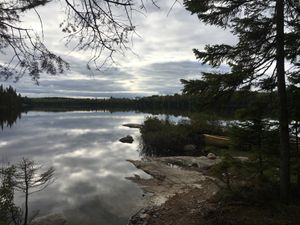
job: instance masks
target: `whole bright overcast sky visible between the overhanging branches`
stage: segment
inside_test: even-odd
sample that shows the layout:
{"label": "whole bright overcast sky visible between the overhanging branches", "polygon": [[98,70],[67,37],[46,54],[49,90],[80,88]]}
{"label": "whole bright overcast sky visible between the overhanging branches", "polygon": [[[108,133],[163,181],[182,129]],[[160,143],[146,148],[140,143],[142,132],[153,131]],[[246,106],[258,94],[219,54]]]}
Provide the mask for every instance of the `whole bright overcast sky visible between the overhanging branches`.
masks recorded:
{"label": "whole bright overcast sky visible between the overhanging branches", "polygon": [[[65,34],[59,28],[64,11],[61,3],[54,0],[37,8],[44,35],[36,13],[22,16],[23,24],[44,36],[48,49],[66,60],[70,70],[56,76],[42,75],[39,85],[28,76],[17,83],[12,80],[1,83],[12,85],[28,97],[131,98],[180,93],[183,88],[180,79],[199,79],[201,72],[212,70],[195,59],[192,49],[201,50],[206,44],[233,44],[235,38],[229,31],[201,23],[180,2],[169,12],[172,4],[173,0],[161,0],[159,9],[148,5],[146,13],[133,14],[138,35],[132,38],[131,51],[117,55],[115,65],[90,71],[86,67],[90,52],[72,51],[65,46]],[[0,61],[5,58],[0,54]]]}

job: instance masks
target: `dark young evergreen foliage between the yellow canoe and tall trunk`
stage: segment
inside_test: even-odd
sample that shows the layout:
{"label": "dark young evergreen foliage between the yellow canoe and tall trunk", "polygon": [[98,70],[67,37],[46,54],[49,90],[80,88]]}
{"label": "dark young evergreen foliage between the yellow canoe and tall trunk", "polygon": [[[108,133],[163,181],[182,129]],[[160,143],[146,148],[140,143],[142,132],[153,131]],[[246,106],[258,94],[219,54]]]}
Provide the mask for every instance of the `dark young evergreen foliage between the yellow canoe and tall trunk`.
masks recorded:
{"label": "dark young evergreen foliage between the yellow canoe and tall trunk", "polygon": [[267,120],[244,121],[230,129],[230,140],[230,149],[251,153],[247,167],[248,175],[254,180],[277,174],[274,170],[279,156],[277,126],[271,128]]}

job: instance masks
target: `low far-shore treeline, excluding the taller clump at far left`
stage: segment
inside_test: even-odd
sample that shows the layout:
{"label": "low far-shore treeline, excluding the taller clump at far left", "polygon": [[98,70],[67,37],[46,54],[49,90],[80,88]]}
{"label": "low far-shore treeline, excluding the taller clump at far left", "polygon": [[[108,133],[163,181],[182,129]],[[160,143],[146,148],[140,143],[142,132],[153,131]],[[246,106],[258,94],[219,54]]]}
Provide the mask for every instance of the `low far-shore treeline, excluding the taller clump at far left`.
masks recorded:
{"label": "low far-shore treeline, excluding the taller clump at far left", "polygon": [[[35,110],[109,110],[109,111],[141,111],[149,113],[182,114],[185,112],[211,111],[215,114],[233,115],[237,109],[248,107],[255,101],[263,102],[270,115],[276,106],[274,94],[261,92],[238,91],[231,96],[220,95],[213,104],[208,104],[207,99],[198,95],[174,94],[153,95],[140,98],[23,98],[23,105],[27,109]],[[272,104],[271,104],[272,103]]]}

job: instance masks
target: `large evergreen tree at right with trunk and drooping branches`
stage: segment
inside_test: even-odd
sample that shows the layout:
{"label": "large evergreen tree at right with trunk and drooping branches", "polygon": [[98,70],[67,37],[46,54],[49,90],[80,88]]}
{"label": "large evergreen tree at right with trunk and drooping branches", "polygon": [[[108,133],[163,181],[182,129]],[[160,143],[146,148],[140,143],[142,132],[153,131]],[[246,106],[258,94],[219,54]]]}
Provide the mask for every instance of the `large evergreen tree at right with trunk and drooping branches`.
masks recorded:
{"label": "large evergreen tree at right with trunk and drooping branches", "polygon": [[[203,63],[220,66],[227,63],[227,73],[205,73],[201,82],[183,81],[184,92],[218,96],[252,87],[273,90],[277,87],[280,123],[280,192],[288,201],[290,152],[286,97],[286,76],[299,76],[300,6],[293,0],[184,0],[192,14],[209,25],[230,29],[238,37],[235,45],[207,45],[194,49]],[[285,60],[291,68],[285,69]]]}

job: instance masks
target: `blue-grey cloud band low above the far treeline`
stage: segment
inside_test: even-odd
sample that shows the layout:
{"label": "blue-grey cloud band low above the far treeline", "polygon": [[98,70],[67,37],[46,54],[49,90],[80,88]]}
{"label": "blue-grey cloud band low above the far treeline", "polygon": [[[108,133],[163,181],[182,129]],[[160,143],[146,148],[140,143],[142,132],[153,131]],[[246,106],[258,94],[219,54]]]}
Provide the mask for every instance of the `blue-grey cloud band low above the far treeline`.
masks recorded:
{"label": "blue-grey cloud band low above the far treeline", "polygon": [[76,66],[67,75],[42,77],[40,84],[32,85],[24,78],[13,85],[24,96],[68,97],[137,97],[155,94],[174,94],[182,89],[180,79],[199,79],[202,72],[226,71],[227,67],[212,69],[198,61],[157,62],[144,66],[107,68],[94,71]]}

